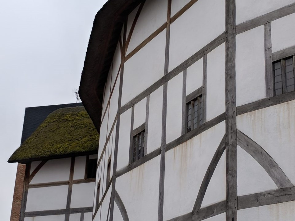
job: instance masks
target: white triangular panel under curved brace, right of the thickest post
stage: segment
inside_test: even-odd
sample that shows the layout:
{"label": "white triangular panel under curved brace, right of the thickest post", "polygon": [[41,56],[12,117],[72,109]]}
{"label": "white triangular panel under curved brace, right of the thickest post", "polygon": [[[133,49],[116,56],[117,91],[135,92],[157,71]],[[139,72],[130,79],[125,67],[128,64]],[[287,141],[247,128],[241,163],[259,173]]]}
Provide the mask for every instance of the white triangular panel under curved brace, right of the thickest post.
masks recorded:
{"label": "white triangular panel under curved brace, right of the thickest post", "polygon": [[240,146],[237,148],[238,196],[277,189],[263,167]]}

